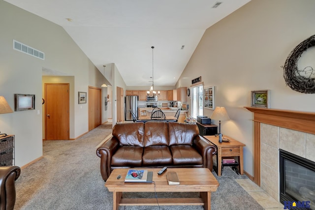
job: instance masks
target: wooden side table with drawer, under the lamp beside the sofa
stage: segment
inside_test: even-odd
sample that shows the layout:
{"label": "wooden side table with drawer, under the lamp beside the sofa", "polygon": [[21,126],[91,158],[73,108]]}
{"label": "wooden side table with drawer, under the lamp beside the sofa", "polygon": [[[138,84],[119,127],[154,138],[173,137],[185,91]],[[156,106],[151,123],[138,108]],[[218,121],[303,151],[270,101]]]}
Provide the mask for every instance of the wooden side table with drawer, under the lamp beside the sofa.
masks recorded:
{"label": "wooden side table with drawer, under the lamp beside the sofa", "polygon": [[244,143],[241,143],[237,140],[234,140],[228,136],[223,135],[223,137],[230,139],[228,142],[219,143],[219,136],[203,136],[211,143],[213,143],[217,149],[217,175],[221,176],[221,167],[222,167],[222,157],[238,157],[239,163],[239,173],[243,175],[244,165],[243,165],[243,146],[246,146]]}

